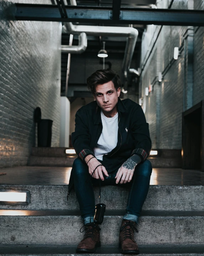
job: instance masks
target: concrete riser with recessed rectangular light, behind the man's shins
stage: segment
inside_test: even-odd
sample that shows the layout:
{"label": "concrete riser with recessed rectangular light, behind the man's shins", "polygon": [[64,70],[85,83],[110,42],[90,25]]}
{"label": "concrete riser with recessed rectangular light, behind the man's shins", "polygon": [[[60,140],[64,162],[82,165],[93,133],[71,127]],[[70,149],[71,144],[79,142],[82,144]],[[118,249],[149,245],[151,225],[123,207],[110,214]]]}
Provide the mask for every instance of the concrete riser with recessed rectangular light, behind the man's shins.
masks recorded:
{"label": "concrete riser with recessed rectangular light, behind the man's shins", "polygon": [[[75,191],[68,196],[68,185],[18,185],[1,184],[1,190],[29,190],[28,205],[0,204],[0,209],[79,209]],[[99,203],[99,187],[94,187],[96,203]],[[129,188],[118,186],[101,187],[101,202],[107,209],[125,209]],[[195,210],[204,209],[203,185],[150,185],[143,210]]]}

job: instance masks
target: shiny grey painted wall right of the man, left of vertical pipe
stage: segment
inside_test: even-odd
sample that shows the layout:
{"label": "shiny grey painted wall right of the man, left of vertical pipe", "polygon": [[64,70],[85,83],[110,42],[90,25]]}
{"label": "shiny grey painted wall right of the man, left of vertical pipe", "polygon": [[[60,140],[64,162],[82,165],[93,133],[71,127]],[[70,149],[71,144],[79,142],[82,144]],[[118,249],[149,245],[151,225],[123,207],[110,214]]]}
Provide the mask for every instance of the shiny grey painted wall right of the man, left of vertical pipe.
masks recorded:
{"label": "shiny grey painted wall right of the man, left of vertical pipe", "polygon": [[[157,8],[168,8],[169,3],[158,1]],[[174,0],[171,8],[187,9],[188,1]],[[172,59],[174,47],[182,45],[186,29],[184,26],[149,25],[143,37],[139,97],[143,97],[152,149],[182,147],[184,50],[177,61]],[[163,72],[162,82],[158,82],[158,72]],[[153,84],[153,91],[145,96],[145,87],[150,84]]]}

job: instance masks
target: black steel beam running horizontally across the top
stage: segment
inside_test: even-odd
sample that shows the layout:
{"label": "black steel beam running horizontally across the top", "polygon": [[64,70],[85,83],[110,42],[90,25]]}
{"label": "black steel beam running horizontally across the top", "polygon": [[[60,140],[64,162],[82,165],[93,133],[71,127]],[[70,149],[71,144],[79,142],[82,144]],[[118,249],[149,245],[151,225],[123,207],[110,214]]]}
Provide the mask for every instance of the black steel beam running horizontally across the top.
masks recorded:
{"label": "black steel beam running horizontally across the top", "polygon": [[[14,4],[16,20],[116,23],[112,8],[101,6],[65,6],[68,18],[62,18],[57,5]],[[117,24],[155,24],[204,26],[204,10],[141,9],[121,7]]]}

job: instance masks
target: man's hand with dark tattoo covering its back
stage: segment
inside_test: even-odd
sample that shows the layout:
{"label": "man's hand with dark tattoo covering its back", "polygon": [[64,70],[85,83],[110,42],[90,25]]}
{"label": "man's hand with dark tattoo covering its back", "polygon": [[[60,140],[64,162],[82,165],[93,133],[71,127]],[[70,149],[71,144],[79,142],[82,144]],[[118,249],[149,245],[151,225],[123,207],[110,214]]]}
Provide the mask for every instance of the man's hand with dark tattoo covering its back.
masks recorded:
{"label": "man's hand with dark tattoo covering its back", "polygon": [[115,177],[116,184],[118,184],[120,179],[120,184],[130,182],[133,177],[134,168],[136,165],[136,162],[134,162],[131,158],[128,158],[124,162],[124,164],[118,169],[118,172]]}

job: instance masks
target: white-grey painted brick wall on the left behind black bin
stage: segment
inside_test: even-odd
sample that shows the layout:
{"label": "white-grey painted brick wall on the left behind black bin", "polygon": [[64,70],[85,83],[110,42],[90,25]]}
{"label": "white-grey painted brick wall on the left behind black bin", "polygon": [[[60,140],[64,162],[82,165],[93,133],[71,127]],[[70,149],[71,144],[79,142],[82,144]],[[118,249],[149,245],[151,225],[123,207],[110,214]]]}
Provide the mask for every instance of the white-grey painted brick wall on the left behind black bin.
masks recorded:
{"label": "white-grey painted brick wall on the left behind black bin", "polygon": [[[11,2],[11,1],[10,1]],[[51,4],[44,1],[15,1]],[[14,1],[12,0],[12,3]],[[53,120],[52,144],[60,135],[60,23],[10,21],[0,12],[0,167],[26,165],[37,145],[34,110]]]}

